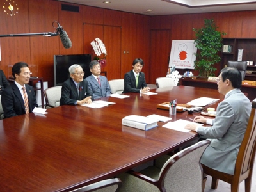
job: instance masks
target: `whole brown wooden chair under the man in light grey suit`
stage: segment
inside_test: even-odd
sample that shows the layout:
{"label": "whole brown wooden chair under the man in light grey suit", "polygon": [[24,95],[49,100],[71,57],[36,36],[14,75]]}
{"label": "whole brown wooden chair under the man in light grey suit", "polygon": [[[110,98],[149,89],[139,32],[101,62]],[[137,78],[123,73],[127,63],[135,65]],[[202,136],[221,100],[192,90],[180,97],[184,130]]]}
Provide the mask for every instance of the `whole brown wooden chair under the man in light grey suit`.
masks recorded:
{"label": "whole brown wooden chair under the man in light grey suit", "polygon": [[237,192],[239,184],[244,180],[245,192],[251,191],[253,163],[255,159],[256,149],[256,115],[255,115],[256,102],[252,102],[252,111],[248,121],[247,129],[244,134],[241,147],[237,154],[234,175],[213,170],[202,164],[204,173],[212,176],[212,189],[218,186],[218,180],[223,180],[231,184],[231,191]]}

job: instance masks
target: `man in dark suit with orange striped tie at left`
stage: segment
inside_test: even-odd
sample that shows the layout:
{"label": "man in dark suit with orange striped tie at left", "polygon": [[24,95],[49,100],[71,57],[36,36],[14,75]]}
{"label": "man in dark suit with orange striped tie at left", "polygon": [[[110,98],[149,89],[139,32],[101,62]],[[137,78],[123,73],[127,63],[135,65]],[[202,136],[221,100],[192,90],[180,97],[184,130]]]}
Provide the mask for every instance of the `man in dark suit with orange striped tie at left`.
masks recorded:
{"label": "man in dark suit with orange striped tie at left", "polygon": [[4,118],[28,114],[38,107],[34,88],[28,85],[30,78],[28,64],[15,63],[12,67],[12,75],[15,81],[3,90],[1,97]]}

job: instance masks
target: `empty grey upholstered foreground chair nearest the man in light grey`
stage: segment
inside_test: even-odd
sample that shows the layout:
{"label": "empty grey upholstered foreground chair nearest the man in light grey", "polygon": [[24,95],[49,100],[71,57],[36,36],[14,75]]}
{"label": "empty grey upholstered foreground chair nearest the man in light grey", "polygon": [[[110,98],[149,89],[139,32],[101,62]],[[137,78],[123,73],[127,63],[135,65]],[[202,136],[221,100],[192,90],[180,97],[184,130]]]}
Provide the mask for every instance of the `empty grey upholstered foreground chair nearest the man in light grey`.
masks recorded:
{"label": "empty grey upholstered foreground chair nearest the man in light grey", "polygon": [[140,172],[131,170],[118,175],[123,182],[120,191],[203,191],[200,159],[209,143],[209,140],[200,141],[173,156],[159,157],[154,166]]}

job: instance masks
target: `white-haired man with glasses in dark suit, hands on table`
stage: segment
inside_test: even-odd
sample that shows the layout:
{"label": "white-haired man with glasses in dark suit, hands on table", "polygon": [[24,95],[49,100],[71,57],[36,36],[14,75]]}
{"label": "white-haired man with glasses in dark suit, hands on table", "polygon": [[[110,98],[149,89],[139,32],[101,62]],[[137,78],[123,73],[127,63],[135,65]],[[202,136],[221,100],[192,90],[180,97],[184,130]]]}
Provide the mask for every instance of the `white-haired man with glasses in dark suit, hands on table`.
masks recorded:
{"label": "white-haired man with glasses in dark suit, hands on table", "polygon": [[83,68],[74,64],[69,67],[70,79],[67,79],[61,88],[60,106],[91,104],[93,97],[84,77]]}

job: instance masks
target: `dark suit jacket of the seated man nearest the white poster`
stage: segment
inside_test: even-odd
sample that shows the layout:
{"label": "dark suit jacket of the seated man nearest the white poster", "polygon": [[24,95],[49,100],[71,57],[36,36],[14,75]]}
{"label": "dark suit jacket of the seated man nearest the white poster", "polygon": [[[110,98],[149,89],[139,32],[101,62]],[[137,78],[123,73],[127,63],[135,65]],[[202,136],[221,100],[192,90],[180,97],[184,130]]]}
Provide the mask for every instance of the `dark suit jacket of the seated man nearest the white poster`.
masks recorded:
{"label": "dark suit jacket of the seated man nearest the white poster", "polygon": [[138,79],[138,86],[136,86],[136,77],[134,76],[133,70],[127,72],[124,75],[124,91],[123,93],[140,93],[140,89],[147,87],[147,83],[145,80],[145,74],[140,72]]}

